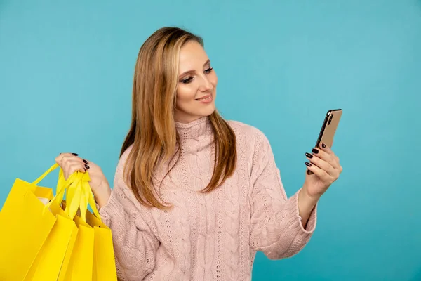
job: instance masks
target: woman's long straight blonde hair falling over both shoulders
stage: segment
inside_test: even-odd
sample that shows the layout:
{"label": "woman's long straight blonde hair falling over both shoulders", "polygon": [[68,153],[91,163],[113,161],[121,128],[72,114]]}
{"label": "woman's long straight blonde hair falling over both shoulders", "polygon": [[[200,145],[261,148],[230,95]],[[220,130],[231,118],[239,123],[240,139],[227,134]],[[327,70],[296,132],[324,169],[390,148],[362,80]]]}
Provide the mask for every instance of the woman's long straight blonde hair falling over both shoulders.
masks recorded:
{"label": "woman's long straight blonde hair falling over both shoulders", "polygon": [[[131,129],[120,156],[133,145],[126,162],[127,183],[139,202],[147,207],[169,207],[154,195],[152,178],[160,163],[172,159],[177,152],[180,156],[174,106],[180,48],[187,41],[203,46],[201,37],[178,27],[156,30],[140,48],[135,65]],[[215,138],[215,164],[210,183],[202,192],[218,188],[236,167],[234,131],[216,110],[209,119]]]}

